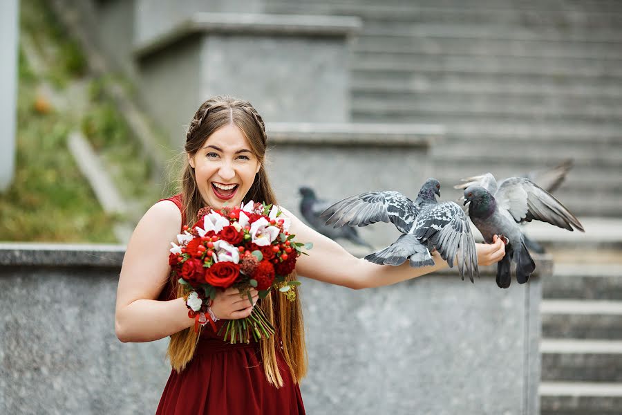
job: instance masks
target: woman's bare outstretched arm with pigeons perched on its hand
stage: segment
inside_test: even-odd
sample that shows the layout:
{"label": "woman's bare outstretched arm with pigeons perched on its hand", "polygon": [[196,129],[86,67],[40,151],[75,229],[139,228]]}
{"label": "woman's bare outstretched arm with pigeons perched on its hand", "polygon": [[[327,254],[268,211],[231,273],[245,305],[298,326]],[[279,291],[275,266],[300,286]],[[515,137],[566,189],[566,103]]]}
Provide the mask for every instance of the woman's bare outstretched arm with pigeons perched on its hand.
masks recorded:
{"label": "woman's bare outstretched arm with pigeons perched on its hand", "polygon": [[[296,240],[313,243],[313,248],[307,252],[309,255],[301,255],[296,262],[296,272],[303,277],[360,289],[395,284],[448,267],[438,252],[433,252],[433,266],[412,268],[408,261],[400,266],[373,264],[351,255],[339,243],[309,228],[291,212],[281,210],[292,219],[290,233],[296,234]],[[476,243],[475,246],[480,265],[494,264],[505,255],[505,244],[500,239],[490,245]]]}

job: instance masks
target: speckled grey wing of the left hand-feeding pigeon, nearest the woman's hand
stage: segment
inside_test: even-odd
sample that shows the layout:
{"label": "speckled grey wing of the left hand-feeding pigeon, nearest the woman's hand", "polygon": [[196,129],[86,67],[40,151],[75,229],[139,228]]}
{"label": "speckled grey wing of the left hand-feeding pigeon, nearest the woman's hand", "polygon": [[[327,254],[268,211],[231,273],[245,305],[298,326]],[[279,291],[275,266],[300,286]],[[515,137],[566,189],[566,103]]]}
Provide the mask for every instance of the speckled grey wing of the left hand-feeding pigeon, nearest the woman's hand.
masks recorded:
{"label": "speckled grey wing of the left hand-feeding pigeon, nearest the woman's hand", "polygon": [[421,212],[414,234],[422,242],[430,241],[450,267],[453,267],[453,259],[458,255],[458,270],[462,279],[468,275],[473,282],[475,275],[479,277],[478,254],[471,227],[457,203],[439,203]]}

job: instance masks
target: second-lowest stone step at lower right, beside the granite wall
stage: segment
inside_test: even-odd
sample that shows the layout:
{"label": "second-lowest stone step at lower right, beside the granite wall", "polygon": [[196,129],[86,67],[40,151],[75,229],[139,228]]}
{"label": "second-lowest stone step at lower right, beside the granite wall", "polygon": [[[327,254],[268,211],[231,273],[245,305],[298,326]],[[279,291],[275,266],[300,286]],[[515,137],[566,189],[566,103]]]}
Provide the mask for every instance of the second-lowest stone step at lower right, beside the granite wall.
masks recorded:
{"label": "second-lowest stone step at lower right, beside the granite wall", "polygon": [[622,381],[622,341],[543,339],[542,380]]}

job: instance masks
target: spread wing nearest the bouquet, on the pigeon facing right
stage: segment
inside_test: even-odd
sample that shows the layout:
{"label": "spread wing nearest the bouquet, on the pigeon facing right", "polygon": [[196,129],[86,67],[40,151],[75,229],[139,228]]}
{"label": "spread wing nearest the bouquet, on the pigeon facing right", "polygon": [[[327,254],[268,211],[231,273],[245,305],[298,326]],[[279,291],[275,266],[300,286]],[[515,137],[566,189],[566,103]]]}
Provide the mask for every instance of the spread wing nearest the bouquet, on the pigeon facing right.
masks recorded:
{"label": "spread wing nearest the bouquet, on the pigeon facing right", "polygon": [[366,226],[370,223],[393,223],[402,233],[410,232],[420,208],[399,192],[367,192],[343,199],[321,215],[326,225]]}

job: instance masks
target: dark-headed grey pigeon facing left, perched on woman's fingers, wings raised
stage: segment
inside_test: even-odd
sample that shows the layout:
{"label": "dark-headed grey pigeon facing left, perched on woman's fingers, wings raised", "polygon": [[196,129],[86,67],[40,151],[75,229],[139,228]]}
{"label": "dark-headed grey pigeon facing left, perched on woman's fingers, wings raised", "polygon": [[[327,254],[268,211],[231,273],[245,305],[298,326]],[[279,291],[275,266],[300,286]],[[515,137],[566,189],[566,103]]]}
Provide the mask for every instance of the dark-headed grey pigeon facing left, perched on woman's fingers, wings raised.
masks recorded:
{"label": "dark-headed grey pigeon facing left, perched on woman's fingers, wings raised", "polygon": [[510,177],[498,184],[492,174],[486,176],[489,180],[482,185],[466,187],[464,205],[469,203],[469,217],[482,232],[484,241],[492,243],[497,234],[506,243],[505,257],[497,264],[497,285],[510,286],[512,261],[516,262],[518,284],[525,284],[536,264],[518,223],[536,219],[570,231],[585,230],[574,214],[528,178]]}

